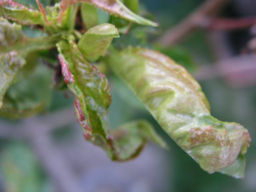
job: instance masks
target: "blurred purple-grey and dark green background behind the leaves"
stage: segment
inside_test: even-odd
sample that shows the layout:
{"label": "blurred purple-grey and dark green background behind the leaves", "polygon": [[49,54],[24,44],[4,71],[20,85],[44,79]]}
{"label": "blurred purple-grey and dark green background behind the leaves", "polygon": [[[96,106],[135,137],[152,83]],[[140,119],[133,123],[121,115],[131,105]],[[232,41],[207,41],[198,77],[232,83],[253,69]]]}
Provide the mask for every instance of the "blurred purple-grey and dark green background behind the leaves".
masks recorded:
{"label": "blurred purple-grey and dark green background behind the leaves", "polygon": [[[33,0],[19,2],[36,7]],[[167,54],[200,82],[212,116],[249,130],[244,179],[204,172],[108,72],[110,126],[145,118],[170,150],[148,144],[134,160],[111,162],[101,148],[84,140],[74,98],[53,91],[44,114],[15,122],[0,119],[0,192],[255,192],[255,8],[256,0],[140,0],[140,14],[160,27],[134,25],[114,41],[116,47],[140,45]],[[30,28],[24,32],[34,35]]]}

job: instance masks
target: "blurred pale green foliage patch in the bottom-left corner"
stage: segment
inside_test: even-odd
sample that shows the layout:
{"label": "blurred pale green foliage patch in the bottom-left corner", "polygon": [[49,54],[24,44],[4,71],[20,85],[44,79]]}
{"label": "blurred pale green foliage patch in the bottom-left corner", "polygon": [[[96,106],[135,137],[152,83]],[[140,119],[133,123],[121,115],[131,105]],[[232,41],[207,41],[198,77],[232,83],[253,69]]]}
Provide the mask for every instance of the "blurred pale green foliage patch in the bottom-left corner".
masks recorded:
{"label": "blurred pale green foliage patch in the bottom-left corner", "polygon": [[9,142],[0,154],[0,176],[6,192],[49,192],[47,180],[27,144]]}

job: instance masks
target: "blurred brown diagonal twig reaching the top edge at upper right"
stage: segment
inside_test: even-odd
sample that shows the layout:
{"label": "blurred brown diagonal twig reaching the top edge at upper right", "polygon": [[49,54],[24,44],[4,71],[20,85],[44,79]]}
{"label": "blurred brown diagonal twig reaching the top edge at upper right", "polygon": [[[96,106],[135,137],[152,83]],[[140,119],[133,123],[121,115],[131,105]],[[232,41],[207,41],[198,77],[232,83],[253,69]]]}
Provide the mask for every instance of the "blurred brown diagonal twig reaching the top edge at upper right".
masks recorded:
{"label": "blurred brown diagonal twig reaching the top edge at upper right", "polygon": [[205,17],[208,17],[211,14],[215,14],[229,1],[230,0],[207,0],[185,20],[170,28],[156,42],[160,43],[164,47],[175,44],[184,38],[187,34],[192,32],[196,27],[198,27],[198,25],[202,25],[202,21],[204,21]]}

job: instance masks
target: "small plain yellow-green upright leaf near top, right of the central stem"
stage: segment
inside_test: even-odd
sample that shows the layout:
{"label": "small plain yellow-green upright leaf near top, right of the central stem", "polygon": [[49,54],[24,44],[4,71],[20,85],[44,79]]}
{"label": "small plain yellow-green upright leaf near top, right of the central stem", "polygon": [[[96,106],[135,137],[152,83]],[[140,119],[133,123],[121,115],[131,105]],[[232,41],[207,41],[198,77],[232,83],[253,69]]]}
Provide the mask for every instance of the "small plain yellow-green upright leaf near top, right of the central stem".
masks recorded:
{"label": "small plain yellow-green upright leaf near top, right of the central stem", "polygon": [[87,30],[98,24],[98,10],[90,4],[82,4],[81,16]]}

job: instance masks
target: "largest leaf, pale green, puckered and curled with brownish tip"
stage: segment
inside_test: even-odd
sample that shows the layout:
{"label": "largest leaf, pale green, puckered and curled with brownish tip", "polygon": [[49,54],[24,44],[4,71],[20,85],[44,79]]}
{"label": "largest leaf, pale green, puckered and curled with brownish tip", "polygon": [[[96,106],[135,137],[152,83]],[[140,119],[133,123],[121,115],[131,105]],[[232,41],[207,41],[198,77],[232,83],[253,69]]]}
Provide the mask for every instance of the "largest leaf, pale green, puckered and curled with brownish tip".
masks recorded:
{"label": "largest leaf, pale green, puckered and curled with brownish tip", "polygon": [[[113,52],[107,62],[202,169],[236,178],[243,175],[244,167],[232,164],[239,154],[246,153],[251,140],[248,130],[240,124],[212,117],[200,85],[182,66],[144,48]],[[232,167],[222,170],[229,166]]]}

